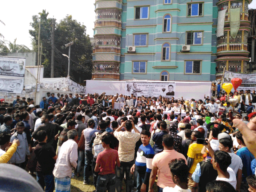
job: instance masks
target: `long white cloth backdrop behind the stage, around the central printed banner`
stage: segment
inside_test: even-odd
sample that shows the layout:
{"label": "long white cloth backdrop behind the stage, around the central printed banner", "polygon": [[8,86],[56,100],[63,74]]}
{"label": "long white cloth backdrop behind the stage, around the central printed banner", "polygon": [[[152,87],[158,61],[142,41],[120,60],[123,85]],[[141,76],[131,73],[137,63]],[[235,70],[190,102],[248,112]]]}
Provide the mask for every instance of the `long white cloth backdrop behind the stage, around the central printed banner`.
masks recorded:
{"label": "long white cloth backdrop behind the stage, around the central printed banner", "polygon": [[[209,81],[207,82],[163,82],[163,81],[96,81],[96,80],[87,80],[86,81],[86,93],[99,93],[106,92],[106,95],[115,95],[116,93],[122,93],[125,95],[125,91],[128,90],[127,84],[131,82],[132,86],[134,82],[137,83],[138,89],[141,89],[144,86],[141,86],[143,83],[148,87],[154,85],[154,89],[150,91],[150,96],[159,97],[162,95],[166,96],[166,93],[169,92],[168,86],[170,84],[175,84],[174,92],[175,92],[175,99],[183,97],[184,99],[204,99],[204,95],[210,96],[211,93],[211,85],[212,83]],[[151,84],[152,83],[152,84]],[[156,84],[165,85],[164,87],[155,88]],[[133,86],[134,88],[134,86]],[[136,87],[137,88],[137,87]],[[163,91],[162,89],[165,88]],[[141,89],[142,90],[142,89]],[[155,91],[154,91],[155,90]],[[146,95],[144,95],[146,96]],[[172,97],[172,96],[171,96]]]}

